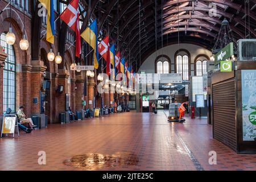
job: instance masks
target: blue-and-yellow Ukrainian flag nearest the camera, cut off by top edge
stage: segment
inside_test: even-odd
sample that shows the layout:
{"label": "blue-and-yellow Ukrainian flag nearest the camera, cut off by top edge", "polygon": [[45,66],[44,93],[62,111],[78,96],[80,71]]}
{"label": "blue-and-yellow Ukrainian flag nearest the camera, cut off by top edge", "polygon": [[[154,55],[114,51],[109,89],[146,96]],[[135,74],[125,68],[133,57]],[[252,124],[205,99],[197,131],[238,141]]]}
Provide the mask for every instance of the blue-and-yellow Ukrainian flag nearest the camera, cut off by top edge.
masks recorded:
{"label": "blue-and-yellow Ukrainian flag nearest the camera, cut off by top edge", "polygon": [[39,0],[47,10],[46,40],[54,44],[55,22],[54,22],[54,0]]}

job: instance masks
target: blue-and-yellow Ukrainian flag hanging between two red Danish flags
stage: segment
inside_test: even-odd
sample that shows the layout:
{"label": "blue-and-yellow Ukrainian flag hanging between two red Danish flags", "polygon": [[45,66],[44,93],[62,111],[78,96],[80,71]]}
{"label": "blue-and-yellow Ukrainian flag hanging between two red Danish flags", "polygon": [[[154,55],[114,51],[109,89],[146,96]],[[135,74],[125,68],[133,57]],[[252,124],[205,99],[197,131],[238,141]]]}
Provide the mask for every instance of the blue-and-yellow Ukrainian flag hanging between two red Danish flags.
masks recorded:
{"label": "blue-and-yellow Ukrainian flag hanging between two red Danish flags", "polygon": [[94,49],[93,62],[94,68],[98,69],[98,33],[97,19],[94,19],[92,24],[82,32],[81,37]]}

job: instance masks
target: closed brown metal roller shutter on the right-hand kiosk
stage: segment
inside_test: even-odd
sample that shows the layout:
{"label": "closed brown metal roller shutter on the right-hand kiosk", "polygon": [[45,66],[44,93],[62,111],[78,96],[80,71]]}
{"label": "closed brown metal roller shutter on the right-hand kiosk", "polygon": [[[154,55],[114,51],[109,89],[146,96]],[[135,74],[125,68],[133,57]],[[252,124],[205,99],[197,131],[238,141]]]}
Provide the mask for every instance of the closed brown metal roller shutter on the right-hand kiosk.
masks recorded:
{"label": "closed brown metal roller shutter on the right-hand kiosk", "polygon": [[234,78],[213,85],[213,138],[237,150]]}

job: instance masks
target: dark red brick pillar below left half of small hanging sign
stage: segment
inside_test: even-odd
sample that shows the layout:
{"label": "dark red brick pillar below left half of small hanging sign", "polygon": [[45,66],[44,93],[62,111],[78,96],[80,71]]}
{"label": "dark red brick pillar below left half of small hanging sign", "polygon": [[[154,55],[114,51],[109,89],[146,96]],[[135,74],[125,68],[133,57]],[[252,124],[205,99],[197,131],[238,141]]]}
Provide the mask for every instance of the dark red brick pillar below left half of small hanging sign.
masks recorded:
{"label": "dark red brick pillar below left half of small hanging sign", "polygon": [[84,78],[76,76],[76,110],[82,109],[82,97],[84,97]]}

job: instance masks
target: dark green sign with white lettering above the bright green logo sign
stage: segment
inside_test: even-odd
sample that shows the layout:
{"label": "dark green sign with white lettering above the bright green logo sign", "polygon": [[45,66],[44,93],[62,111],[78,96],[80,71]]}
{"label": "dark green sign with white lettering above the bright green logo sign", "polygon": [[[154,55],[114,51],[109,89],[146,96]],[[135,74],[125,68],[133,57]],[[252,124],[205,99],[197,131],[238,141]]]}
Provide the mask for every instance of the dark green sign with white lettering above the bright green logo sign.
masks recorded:
{"label": "dark green sign with white lettering above the bright green logo sign", "polygon": [[232,55],[234,55],[234,43],[230,42],[214,56],[215,65],[219,64],[220,61],[225,61],[226,59],[229,59],[229,57]]}

